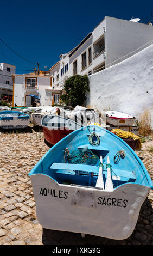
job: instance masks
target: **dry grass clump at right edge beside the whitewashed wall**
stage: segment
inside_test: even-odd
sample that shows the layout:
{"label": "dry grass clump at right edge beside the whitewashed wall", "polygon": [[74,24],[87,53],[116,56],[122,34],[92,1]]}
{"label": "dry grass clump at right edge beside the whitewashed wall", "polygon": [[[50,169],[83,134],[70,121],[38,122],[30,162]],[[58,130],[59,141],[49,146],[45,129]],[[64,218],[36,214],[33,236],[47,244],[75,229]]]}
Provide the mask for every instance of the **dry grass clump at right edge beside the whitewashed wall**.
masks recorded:
{"label": "dry grass clump at right edge beside the whitewashed wall", "polygon": [[151,134],[151,111],[145,109],[143,113],[139,114],[138,120],[139,135],[148,136]]}

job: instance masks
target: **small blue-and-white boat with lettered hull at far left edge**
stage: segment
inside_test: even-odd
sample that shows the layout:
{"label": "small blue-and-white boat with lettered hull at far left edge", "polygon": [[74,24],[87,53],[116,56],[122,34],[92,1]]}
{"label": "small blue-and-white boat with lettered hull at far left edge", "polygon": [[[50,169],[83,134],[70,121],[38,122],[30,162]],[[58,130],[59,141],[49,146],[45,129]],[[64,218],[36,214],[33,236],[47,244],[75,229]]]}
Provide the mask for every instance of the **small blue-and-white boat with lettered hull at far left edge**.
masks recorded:
{"label": "small blue-and-white boat with lettered hull at far left edge", "polygon": [[25,128],[29,124],[29,115],[18,111],[1,111],[0,127],[2,129]]}

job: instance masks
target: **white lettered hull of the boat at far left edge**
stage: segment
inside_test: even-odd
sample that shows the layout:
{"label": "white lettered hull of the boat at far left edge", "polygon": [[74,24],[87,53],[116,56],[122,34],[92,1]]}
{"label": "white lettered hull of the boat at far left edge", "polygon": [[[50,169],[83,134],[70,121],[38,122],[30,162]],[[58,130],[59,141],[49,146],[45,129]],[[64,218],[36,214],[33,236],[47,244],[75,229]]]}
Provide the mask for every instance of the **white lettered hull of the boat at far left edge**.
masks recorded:
{"label": "white lettered hull of the boat at far left edge", "polygon": [[25,128],[29,124],[29,118],[18,119],[14,117],[13,120],[0,120],[0,127],[2,129],[15,129],[15,128]]}

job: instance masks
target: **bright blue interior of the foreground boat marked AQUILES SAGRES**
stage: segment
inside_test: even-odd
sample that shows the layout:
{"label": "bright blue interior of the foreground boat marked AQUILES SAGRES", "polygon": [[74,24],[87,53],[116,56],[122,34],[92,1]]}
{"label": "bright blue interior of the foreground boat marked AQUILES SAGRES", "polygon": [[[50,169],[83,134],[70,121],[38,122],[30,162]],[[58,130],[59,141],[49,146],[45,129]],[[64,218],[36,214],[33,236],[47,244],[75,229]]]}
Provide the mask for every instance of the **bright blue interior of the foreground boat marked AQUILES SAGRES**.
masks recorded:
{"label": "bright blue interior of the foreground boat marked AQUILES SAGRES", "polygon": [[59,184],[95,188],[102,156],[105,186],[109,156],[113,188],[129,182],[149,186],[149,174],[143,163],[122,139],[103,129],[102,133],[99,131],[99,144],[93,145],[89,141],[90,133],[81,130],[72,132],[51,148],[29,175],[46,174]]}

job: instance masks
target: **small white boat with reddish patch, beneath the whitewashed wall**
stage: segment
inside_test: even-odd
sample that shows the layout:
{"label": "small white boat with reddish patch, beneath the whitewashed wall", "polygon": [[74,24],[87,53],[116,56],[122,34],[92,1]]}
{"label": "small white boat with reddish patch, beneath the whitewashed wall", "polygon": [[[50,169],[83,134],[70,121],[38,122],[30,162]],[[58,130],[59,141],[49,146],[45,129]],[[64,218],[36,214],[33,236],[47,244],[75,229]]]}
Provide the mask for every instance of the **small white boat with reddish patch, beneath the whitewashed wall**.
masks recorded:
{"label": "small white boat with reddish patch, beneath the whitewashed wall", "polygon": [[113,126],[133,126],[135,117],[132,115],[118,112],[118,111],[106,111],[106,124]]}

